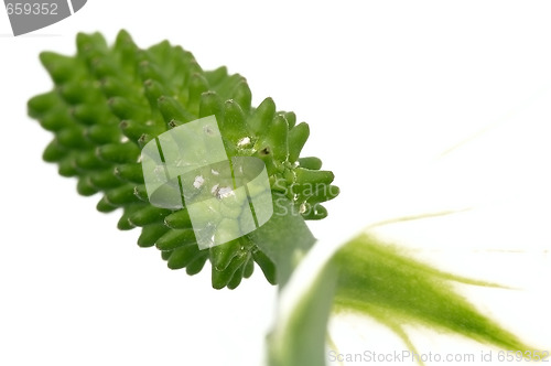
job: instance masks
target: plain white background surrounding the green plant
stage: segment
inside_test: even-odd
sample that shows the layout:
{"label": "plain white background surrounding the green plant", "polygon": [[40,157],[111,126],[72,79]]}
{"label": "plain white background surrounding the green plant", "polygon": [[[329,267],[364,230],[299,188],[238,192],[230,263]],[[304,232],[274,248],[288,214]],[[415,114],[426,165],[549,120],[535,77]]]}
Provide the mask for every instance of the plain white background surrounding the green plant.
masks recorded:
{"label": "plain white background surrounding the green plant", "polygon": [[[474,207],[378,233],[439,268],[527,289],[462,288],[551,348],[550,19],[547,1],[90,0],[13,37],[0,11],[0,365],[262,357],[276,289],[260,271],[236,291],[212,290],[208,268],[170,271],[155,249],[137,247],[137,230],[117,230],[118,213],[97,213],[99,197],[79,197],[74,180],[41,161],[51,134],[25,112],[52,86],[39,52],[71,54],[76,32],[112,41],[121,28],[141,46],[168,39],[204,68],[227,65],[247,77],[255,104],[271,96],[311,125],[305,153],[343,192],[312,225],[323,243],[378,219]],[[336,341],[347,352],[404,348],[372,326]],[[411,332],[426,352],[484,349]]]}

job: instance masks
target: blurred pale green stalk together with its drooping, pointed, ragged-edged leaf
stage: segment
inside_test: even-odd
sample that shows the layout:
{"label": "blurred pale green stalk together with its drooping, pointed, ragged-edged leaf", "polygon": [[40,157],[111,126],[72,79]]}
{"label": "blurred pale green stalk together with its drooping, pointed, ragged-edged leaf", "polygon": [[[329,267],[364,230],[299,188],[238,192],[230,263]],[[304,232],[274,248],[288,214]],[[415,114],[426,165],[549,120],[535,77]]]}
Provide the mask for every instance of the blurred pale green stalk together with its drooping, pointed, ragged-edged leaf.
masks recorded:
{"label": "blurred pale green stalk together with its drooping, pointed, ragged-edged leaf", "polygon": [[396,332],[412,352],[403,324],[461,334],[503,349],[533,349],[478,312],[450,282],[495,286],[441,272],[400,254],[399,248],[359,235],[322,267],[292,309],[280,314],[268,338],[269,365],[325,365],[331,311],[372,317]]}

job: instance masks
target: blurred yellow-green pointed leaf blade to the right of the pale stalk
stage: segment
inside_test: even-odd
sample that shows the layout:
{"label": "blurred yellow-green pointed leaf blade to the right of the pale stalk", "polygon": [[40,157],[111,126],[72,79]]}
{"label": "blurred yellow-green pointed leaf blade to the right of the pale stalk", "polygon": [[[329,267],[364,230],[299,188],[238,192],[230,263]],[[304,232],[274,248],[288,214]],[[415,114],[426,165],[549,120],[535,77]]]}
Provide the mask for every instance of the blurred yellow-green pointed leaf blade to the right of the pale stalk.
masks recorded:
{"label": "blurred yellow-green pointed leaf blade to the right of the pale stalk", "polygon": [[379,320],[383,314],[400,323],[458,333],[504,349],[529,349],[450,286],[463,279],[403,256],[372,236],[356,237],[334,260],[341,269],[337,311],[354,310]]}

